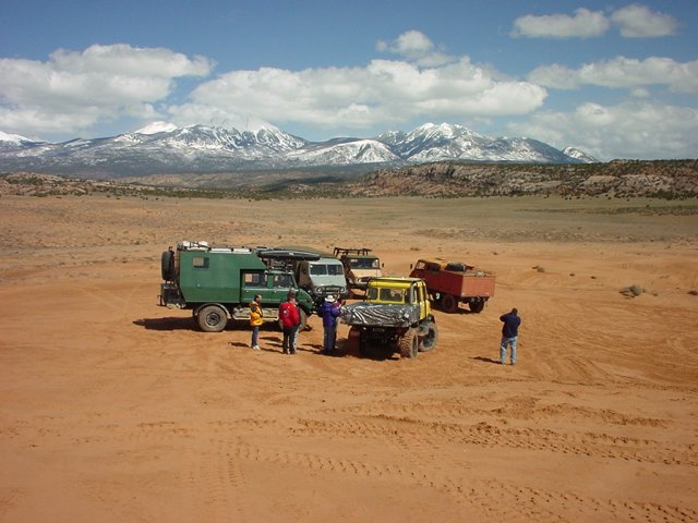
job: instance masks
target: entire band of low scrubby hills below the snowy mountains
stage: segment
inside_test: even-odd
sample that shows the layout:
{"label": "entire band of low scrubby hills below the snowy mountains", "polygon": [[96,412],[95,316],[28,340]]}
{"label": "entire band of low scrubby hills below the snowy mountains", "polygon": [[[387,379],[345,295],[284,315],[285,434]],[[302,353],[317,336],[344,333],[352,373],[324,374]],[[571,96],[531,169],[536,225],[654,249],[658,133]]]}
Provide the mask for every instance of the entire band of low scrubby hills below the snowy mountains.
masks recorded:
{"label": "entire band of low scrubby hills below the snowy mountains", "polygon": [[85,180],[32,172],[0,175],[0,195],[93,193],[189,197],[517,196],[698,197],[698,160],[591,165],[435,162],[364,175],[317,170]]}

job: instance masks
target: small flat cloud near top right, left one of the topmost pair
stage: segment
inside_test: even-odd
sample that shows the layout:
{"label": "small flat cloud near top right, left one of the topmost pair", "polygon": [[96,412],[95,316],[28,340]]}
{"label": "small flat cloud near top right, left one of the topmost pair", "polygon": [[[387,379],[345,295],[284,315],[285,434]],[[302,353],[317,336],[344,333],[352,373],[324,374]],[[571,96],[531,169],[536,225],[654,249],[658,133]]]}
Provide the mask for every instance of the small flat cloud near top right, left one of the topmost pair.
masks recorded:
{"label": "small flat cloud near top right, left one of the topmost pair", "polygon": [[528,14],[514,21],[512,36],[528,38],[590,38],[603,35],[611,26],[601,11],[580,8],[574,16]]}

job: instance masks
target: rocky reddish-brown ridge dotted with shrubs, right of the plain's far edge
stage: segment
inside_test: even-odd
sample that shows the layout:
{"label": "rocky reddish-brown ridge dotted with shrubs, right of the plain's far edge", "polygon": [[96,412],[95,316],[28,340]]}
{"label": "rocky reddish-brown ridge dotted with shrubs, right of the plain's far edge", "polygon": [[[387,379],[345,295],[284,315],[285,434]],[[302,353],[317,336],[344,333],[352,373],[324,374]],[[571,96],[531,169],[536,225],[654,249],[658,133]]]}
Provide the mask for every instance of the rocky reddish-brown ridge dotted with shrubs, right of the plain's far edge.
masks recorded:
{"label": "rocky reddish-brown ridge dotted with shrubs, right of the plain's far edge", "polygon": [[384,169],[349,182],[353,196],[698,196],[698,160],[614,160],[586,165],[437,162]]}

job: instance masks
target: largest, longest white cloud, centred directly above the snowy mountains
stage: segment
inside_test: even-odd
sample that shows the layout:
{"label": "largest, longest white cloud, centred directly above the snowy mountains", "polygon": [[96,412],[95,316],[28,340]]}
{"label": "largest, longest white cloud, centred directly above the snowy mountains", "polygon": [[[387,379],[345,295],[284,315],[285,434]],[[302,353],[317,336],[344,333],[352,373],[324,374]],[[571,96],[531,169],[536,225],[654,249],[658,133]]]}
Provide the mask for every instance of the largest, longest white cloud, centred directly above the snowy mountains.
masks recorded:
{"label": "largest, longest white cloud, centred directly above the snowy mountains", "polygon": [[527,114],[544,88],[495,80],[468,57],[442,66],[373,60],[364,68],[233,71],[206,82],[191,102],[168,108],[179,121],[251,113],[281,123],[365,129],[412,119]]}

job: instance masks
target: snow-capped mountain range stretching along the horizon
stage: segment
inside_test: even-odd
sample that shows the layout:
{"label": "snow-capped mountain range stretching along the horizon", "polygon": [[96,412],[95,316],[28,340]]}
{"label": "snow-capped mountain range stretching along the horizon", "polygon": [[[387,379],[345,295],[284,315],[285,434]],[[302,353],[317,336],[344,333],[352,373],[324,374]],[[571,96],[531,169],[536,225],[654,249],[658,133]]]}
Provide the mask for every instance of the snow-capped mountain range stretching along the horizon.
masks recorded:
{"label": "snow-capped mountain range stretching along the horizon", "polygon": [[489,137],[457,124],[421,125],[374,138],[310,142],[274,126],[239,131],[156,122],[132,133],[63,143],[34,142],[0,132],[0,170],[91,178],[216,173],[318,167],[405,167],[443,160],[516,163],[592,163],[568,147],[526,137]]}

